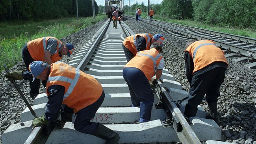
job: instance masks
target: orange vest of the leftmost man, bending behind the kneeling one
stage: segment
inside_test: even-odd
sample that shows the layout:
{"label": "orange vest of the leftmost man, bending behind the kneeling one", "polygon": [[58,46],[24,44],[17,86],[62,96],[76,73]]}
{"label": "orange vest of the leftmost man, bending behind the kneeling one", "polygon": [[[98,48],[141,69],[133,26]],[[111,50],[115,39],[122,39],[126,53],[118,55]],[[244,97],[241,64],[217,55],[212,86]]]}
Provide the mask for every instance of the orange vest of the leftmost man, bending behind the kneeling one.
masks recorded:
{"label": "orange vest of the leftmost man, bending behind the kneeling one", "polygon": [[[37,38],[32,41],[28,41],[27,47],[28,47],[28,52],[30,53],[30,56],[36,60],[36,61],[45,61],[45,49],[47,45],[47,40],[49,38],[54,38],[51,36],[46,36],[43,38]],[[52,62],[55,63],[56,61],[59,61],[61,57],[59,56],[59,48],[62,45],[62,42],[58,40],[57,38],[54,38],[55,40],[58,41],[56,51],[54,54],[51,56]]]}

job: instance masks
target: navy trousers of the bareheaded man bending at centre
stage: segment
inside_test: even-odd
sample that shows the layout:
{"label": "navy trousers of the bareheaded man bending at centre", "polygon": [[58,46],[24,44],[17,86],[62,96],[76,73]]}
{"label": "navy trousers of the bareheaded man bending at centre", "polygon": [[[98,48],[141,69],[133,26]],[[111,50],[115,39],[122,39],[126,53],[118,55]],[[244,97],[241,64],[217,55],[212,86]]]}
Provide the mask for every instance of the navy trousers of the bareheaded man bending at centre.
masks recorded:
{"label": "navy trousers of the bareheaded man bending at centre", "polygon": [[125,67],[122,76],[130,90],[132,106],[140,106],[139,122],[150,121],[154,94],[145,74],[138,68]]}

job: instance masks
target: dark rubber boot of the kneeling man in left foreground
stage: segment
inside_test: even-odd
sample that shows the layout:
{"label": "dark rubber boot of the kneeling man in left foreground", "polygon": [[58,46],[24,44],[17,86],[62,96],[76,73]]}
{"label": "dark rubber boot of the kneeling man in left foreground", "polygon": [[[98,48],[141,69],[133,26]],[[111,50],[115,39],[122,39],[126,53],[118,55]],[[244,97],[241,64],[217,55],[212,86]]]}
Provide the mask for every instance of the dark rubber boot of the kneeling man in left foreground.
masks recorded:
{"label": "dark rubber boot of the kneeling man in left foreground", "polygon": [[98,128],[93,133],[93,135],[106,140],[105,144],[117,144],[120,139],[119,135],[115,131],[110,130],[103,124],[98,125]]}

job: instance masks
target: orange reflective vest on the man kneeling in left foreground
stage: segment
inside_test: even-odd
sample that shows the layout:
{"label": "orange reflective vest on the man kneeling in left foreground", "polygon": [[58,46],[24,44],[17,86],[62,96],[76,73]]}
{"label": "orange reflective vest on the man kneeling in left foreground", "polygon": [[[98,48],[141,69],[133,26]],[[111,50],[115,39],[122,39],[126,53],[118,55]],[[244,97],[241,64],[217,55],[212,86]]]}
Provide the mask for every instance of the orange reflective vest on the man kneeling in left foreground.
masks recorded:
{"label": "orange reflective vest on the man kneeling in left foreground", "polygon": [[52,63],[46,90],[52,85],[65,87],[62,104],[73,108],[74,113],[95,103],[103,91],[102,86],[94,77],[60,61]]}

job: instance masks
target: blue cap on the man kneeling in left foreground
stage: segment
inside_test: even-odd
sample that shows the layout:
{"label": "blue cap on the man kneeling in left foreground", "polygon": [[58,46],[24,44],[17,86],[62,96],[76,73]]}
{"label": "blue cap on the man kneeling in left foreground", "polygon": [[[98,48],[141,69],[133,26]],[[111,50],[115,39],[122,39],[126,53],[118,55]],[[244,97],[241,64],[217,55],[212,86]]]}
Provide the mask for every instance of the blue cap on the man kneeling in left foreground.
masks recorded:
{"label": "blue cap on the man kneeling in left foreground", "polygon": [[39,74],[41,74],[41,72],[43,72],[43,70],[46,68],[46,63],[43,64],[45,62],[43,61],[33,61],[32,63],[30,63],[28,69],[30,70],[30,72],[32,73],[33,77],[33,81],[36,79],[35,77],[37,77]]}

